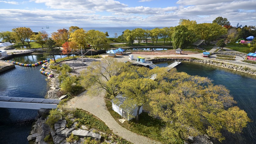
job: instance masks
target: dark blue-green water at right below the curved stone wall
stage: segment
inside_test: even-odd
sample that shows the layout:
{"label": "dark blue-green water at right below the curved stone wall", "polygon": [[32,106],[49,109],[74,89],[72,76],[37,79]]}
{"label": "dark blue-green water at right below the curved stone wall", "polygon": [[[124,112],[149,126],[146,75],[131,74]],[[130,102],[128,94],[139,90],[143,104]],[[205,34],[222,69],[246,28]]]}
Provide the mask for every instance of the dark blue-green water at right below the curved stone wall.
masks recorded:
{"label": "dark blue-green water at right below the curved stone wall", "polygon": [[[156,65],[167,65],[167,62]],[[243,109],[253,120],[243,129],[240,135],[227,135],[223,144],[255,144],[256,143],[256,76],[241,72],[231,71],[216,66],[182,62],[177,67],[178,72],[186,72],[190,75],[208,77],[214,84],[224,85],[237,102],[237,106]]]}

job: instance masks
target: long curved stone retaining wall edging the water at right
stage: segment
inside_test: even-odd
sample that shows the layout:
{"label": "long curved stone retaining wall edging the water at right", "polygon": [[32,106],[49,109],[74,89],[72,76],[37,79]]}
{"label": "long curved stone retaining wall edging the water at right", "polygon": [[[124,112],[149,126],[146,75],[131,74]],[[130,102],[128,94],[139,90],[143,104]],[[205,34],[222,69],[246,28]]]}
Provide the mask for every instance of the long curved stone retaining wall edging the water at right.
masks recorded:
{"label": "long curved stone retaining wall edging the water at right", "polygon": [[217,61],[209,61],[209,60],[194,60],[194,59],[177,59],[177,58],[158,58],[158,59],[151,59],[150,61],[154,62],[164,62],[164,61],[190,61],[190,62],[197,62],[201,64],[208,64],[208,65],[214,65],[221,68],[227,68],[238,72],[248,73],[250,75],[256,76],[256,70],[245,68],[241,66],[231,65],[231,64],[225,64],[223,62],[217,62]]}

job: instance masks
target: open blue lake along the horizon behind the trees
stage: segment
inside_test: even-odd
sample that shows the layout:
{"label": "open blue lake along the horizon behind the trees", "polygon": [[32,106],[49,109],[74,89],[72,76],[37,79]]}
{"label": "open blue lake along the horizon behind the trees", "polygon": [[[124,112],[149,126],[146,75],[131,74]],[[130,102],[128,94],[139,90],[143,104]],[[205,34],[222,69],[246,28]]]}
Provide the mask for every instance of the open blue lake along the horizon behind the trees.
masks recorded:
{"label": "open blue lake along the horizon behind the trees", "polygon": [[[2,25],[0,26],[0,31],[12,31],[13,28],[18,28],[21,26],[9,26],[9,25]],[[58,29],[67,29],[69,30],[69,27],[53,27],[53,26],[49,26],[49,28],[46,28],[46,26],[22,26],[22,27],[28,27],[31,28],[32,31],[34,32],[39,32],[39,31],[46,31],[49,35],[51,35],[52,32],[57,32]],[[133,30],[135,28],[142,28],[142,29],[154,29],[156,27],[80,27],[83,28],[84,30],[88,31],[88,30],[98,30],[98,31],[102,31],[102,32],[108,32],[109,34],[109,38],[114,38],[115,37],[115,33],[117,33],[117,37],[119,35],[122,35],[122,32],[125,30]],[[162,27],[159,27],[162,28]],[[1,41],[1,39],[0,39]]]}

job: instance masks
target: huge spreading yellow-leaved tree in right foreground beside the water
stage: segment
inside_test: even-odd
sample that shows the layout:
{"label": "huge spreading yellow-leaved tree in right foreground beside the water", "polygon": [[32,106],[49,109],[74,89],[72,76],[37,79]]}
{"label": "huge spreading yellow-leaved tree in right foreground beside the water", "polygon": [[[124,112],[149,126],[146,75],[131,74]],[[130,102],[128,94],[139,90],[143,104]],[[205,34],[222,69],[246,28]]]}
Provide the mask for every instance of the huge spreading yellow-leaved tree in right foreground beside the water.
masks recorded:
{"label": "huge spreading yellow-leaved tree in right foreground beside the water", "polygon": [[150,115],[166,122],[162,136],[169,143],[203,134],[222,141],[224,131],[240,133],[250,122],[224,86],[176,69],[153,71],[158,87],[149,92]]}

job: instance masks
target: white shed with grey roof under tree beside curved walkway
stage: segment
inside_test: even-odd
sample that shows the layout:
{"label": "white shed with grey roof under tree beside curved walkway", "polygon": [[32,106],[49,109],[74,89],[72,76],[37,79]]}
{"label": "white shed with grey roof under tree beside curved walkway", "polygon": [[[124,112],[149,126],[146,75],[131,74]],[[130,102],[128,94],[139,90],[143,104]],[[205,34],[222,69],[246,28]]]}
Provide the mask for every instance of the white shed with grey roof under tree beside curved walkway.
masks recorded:
{"label": "white shed with grey roof under tree beside curved walkway", "polygon": [[[111,100],[112,109],[126,120],[131,120],[131,119],[135,118],[135,116],[137,115],[138,107],[136,106],[134,109],[132,109],[132,108],[121,109],[120,105],[123,104],[126,97],[124,97],[122,94],[118,94],[115,98],[117,99],[118,102],[114,102],[115,101],[114,99]],[[139,109],[139,114],[142,113],[142,107],[143,106],[141,106]]]}

